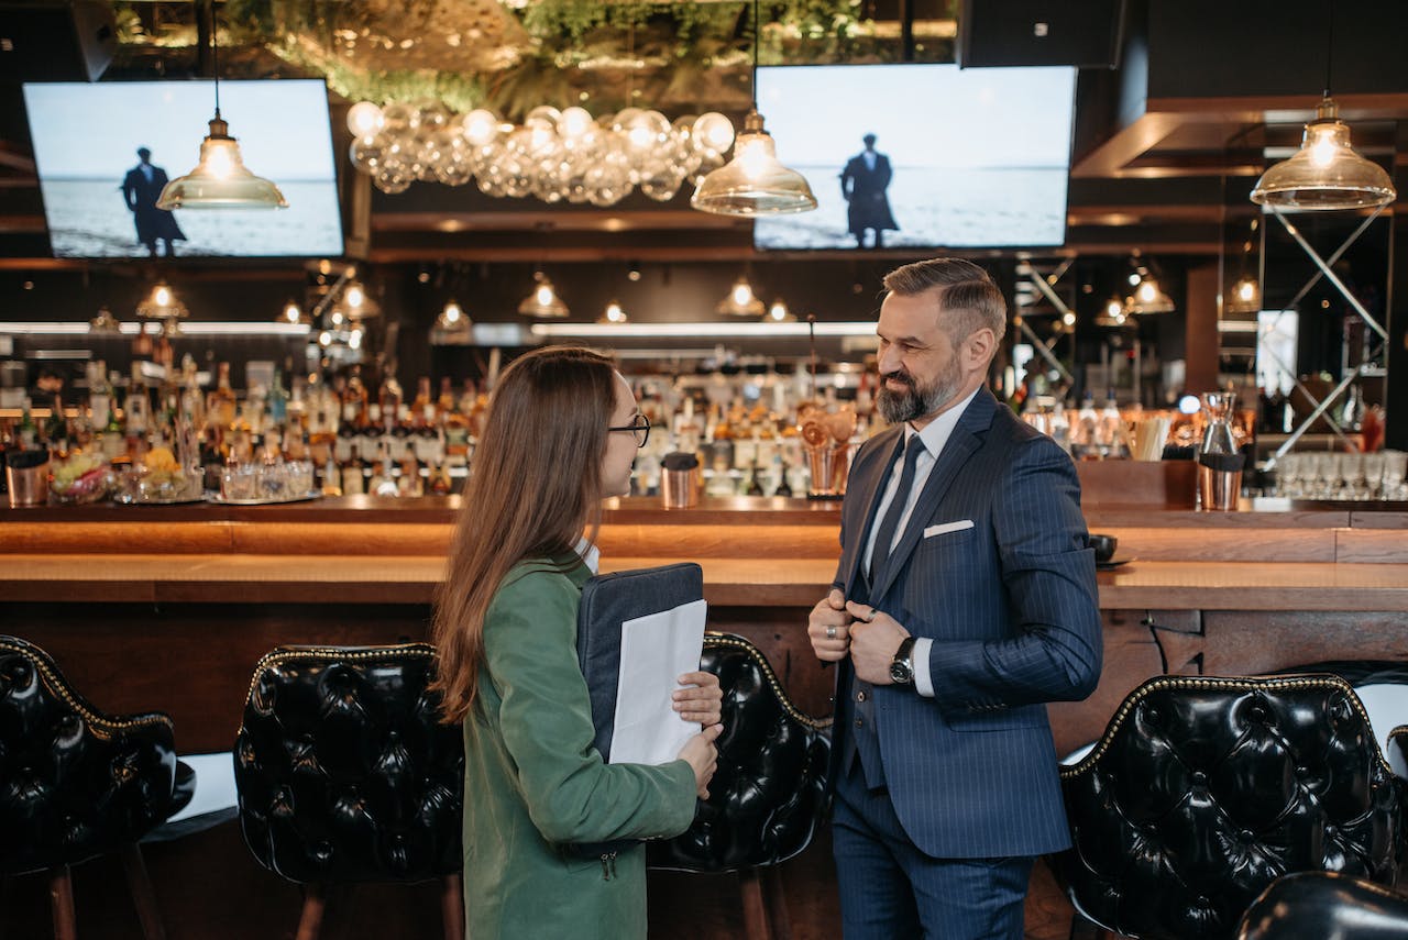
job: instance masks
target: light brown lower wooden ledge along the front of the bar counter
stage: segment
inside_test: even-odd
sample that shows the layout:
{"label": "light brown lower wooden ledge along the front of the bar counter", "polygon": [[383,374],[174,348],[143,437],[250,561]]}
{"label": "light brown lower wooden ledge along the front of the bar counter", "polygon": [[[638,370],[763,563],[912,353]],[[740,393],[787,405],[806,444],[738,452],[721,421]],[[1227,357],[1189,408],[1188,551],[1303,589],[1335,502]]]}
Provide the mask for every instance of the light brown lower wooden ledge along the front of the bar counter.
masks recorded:
{"label": "light brown lower wooden ledge along the front of the bar counter", "polygon": [[[603,571],[687,559],[603,557]],[[826,591],[825,559],[704,559],[721,606],[805,606]],[[0,601],[139,604],[428,604],[444,560],[428,556],[13,554]],[[1401,611],[1408,564],[1131,561],[1101,571],[1105,609]]]}

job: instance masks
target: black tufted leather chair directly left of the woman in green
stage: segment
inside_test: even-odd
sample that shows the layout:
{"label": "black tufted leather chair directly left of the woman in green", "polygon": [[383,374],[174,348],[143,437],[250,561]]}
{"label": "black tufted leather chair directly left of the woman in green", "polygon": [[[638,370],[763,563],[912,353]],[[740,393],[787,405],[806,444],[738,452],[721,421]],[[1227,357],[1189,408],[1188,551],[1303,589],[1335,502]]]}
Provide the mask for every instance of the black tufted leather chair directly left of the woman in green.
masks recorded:
{"label": "black tufted leather chair directly left of the woman in green", "polygon": [[304,887],[298,939],[317,937],[327,889],[445,881],[446,937],[463,937],[465,747],[427,691],[425,643],[280,647],[259,660],[235,739],[245,844]]}

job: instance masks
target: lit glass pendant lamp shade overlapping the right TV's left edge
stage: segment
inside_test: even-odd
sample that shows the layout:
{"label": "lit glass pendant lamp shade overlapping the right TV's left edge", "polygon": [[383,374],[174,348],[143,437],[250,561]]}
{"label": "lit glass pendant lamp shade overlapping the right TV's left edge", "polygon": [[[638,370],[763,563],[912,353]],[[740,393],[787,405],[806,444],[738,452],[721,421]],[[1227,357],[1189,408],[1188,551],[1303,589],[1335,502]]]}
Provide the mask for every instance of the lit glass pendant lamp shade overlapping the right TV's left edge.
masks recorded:
{"label": "lit glass pendant lamp shade overlapping the right TV's left edge", "polygon": [[763,115],[753,110],[734,144],[734,159],[700,182],[690,205],[701,212],[750,218],[810,212],[817,208],[817,197],[801,173],[777,162]]}

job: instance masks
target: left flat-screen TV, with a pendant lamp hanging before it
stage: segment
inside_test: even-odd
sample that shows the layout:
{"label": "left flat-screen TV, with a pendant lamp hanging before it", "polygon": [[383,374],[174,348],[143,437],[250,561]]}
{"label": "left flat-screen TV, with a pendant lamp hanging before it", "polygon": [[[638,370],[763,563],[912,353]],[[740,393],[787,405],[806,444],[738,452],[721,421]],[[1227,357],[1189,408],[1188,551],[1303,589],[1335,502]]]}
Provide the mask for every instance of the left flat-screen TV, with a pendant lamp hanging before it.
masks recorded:
{"label": "left flat-screen TV, with a pendant lamp hanging before it", "polygon": [[322,80],[220,83],[220,113],[245,166],[279,186],[289,200],[283,210],[184,208],[153,220],[130,208],[139,190],[153,191],[158,172],[176,179],[196,166],[215,110],[213,82],[27,83],[24,104],[58,258],[145,258],[152,252],[144,239],[176,258],[342,253]]}

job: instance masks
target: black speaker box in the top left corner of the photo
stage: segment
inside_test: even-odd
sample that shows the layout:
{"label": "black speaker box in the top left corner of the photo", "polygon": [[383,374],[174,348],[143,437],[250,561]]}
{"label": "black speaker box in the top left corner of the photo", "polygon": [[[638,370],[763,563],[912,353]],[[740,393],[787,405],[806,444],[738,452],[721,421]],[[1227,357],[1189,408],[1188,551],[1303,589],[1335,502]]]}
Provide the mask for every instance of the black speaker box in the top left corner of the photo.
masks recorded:
{"label": "black speaker box in the top left corner of the photo", "polygon": [[114,49],[110,0],[0,1],[0,82],[96,82]]}

